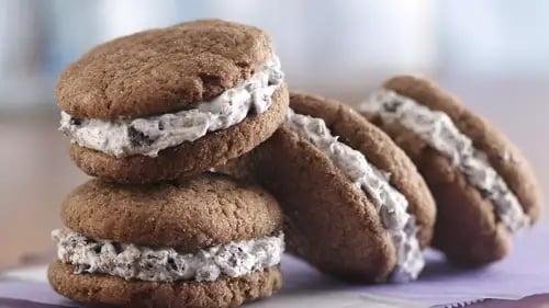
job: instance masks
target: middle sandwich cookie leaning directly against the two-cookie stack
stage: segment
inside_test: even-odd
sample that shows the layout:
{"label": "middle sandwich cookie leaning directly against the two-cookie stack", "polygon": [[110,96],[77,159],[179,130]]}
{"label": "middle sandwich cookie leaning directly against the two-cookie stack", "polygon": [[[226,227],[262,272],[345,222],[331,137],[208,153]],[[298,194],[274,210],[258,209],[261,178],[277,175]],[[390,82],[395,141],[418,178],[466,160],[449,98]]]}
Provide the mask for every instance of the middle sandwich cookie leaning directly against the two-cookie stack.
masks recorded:
{"label": "middle sandwich cookie leaning directly against the two-cookie stack", "polygon": [[[290,252],[352,282],[414,280],[435,204],[404,152],[341,103],[290,94],[285,124],[226,167],[279,199]],[[246,174],[245,174],[246,175]]]}

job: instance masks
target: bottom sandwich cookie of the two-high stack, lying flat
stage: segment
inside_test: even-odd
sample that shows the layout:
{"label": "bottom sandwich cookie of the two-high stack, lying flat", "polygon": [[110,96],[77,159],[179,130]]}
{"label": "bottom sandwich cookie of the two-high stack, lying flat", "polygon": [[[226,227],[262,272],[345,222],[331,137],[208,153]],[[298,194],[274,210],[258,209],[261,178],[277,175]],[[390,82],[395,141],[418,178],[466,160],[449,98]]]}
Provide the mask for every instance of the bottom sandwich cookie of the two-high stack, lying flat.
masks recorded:
{"label": "bottom sandwich cookie of the two-high stack, lying flat", "polygon": [[282,284],[277,202],[226,176],[141,187],[91,180],[66,198],[61,218],[48,280],[77,301],[237,307]]}

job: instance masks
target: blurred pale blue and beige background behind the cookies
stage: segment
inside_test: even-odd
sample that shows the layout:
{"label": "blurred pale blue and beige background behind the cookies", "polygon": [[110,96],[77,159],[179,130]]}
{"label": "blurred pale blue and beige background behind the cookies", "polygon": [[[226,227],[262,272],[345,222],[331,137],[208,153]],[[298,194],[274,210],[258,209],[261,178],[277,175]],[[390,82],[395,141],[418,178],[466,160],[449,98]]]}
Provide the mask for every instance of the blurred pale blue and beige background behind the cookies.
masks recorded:
{"label": "blurred pale blue and beige background behind the cookies", "polygon": [[98,43],[221,18],[269,32],[293,89],[356,104],[391,75],[428,76],[504,130],[548,195],[547,16],[544,0],[0,0],[0,269],[48,258],[59,205],[87,179],[54,88]]}

